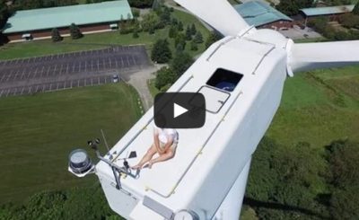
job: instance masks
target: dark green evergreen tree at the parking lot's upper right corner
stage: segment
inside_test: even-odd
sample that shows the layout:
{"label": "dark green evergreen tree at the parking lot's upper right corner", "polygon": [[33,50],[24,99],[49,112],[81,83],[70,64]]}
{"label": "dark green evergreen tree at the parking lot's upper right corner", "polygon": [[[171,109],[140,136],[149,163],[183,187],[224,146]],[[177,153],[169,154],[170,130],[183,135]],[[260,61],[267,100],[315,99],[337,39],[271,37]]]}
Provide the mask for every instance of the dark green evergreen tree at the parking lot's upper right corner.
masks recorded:
{"label": "dark green evergreen tree at the parking lot's upper right corner", "polygon": [[157,40],[151,52],[151,58],[154,62],[163,64],[167,63],[172,57],[169,42],[167,40]]}

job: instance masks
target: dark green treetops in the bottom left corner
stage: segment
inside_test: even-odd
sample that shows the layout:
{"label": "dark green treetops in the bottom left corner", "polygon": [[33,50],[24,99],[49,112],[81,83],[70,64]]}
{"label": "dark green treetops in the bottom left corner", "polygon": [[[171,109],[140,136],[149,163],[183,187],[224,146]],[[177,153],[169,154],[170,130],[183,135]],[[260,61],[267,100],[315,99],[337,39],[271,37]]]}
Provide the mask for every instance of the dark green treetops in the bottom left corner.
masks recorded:
{"label": "dark green treetops in the bottom left corner", "polygon": [[110,210],[100,184],[64,191],[43,191],[27,199],[22,206],[0,207],[2,220],[30,219],[123,219]]}

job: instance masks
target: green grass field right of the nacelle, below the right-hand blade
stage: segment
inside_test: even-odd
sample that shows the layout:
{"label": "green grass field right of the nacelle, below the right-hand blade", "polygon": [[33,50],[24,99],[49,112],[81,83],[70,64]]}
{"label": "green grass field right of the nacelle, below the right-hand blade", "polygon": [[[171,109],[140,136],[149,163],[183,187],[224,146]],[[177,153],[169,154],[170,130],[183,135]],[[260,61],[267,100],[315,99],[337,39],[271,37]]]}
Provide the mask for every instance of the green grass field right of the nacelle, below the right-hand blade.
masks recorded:
{"label": "green grass field right of the nacelle, below the right-hand blade", "polygon": [[321,150],[336,139],[359,141],[359,66],[288,78],[267,136],[289,146],[309,142]]}

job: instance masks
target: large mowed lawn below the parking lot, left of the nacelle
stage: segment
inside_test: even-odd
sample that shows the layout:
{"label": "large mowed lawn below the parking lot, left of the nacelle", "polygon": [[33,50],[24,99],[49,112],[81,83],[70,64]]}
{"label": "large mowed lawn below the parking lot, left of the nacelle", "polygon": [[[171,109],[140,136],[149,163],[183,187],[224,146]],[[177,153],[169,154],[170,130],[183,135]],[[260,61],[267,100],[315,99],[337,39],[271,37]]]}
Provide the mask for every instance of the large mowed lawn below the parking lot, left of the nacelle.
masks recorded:
{"label": "large mowed lawn below the parking lot, left of the nacelle", "polygon": [[[22,201],[44,189],[94,184],[67,172],[68,154],[101,137],[114,145],[140,117],[138,94],[127,84],[0,99],[0,204]],[[106,153],[104,145],[101,153]]]}

